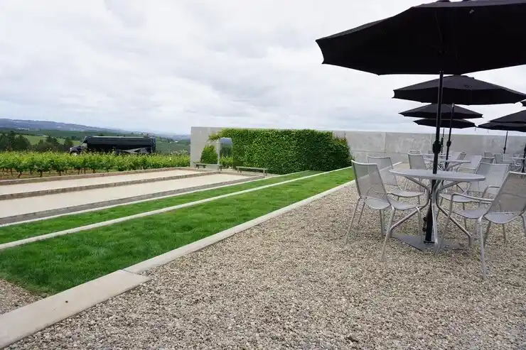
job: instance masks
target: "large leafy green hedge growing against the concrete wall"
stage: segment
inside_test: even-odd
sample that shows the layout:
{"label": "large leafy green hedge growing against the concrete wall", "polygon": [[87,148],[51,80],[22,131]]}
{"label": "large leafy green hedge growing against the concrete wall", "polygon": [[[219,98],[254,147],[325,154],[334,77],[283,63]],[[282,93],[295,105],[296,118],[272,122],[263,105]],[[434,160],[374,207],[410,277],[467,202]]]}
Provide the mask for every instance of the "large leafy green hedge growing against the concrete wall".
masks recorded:
{"label": "large leafy green hedge growing against the concrete wall", "polygon": [[330,131],[226,128],[210,139],[220,137],[232,138],[234,166],[268,168],[274,174],[334,170],[351,160],[345,139]]}

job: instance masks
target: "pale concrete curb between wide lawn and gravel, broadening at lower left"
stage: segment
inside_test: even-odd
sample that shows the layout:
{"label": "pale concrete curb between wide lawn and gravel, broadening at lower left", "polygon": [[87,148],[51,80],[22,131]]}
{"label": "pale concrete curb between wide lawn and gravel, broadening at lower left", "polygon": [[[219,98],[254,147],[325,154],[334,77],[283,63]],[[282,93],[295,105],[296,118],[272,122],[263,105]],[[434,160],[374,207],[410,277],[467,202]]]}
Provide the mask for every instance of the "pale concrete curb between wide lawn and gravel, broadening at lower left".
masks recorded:
{"label": "pale concrete curb between wide lawn and gravel, broadening at lower left", "polygon": [[[311,175],[310,177],[316,175]],[[245,231],[253,226],[257,226],[258,224],[262,224],[269,219],[273,219],[281,214],[309,204],[316,199],[321,199],[327,195],[331,195],[331,193],[336,192],[353,182],[354,180],[339,185],[338,187],[334,187],[331,190],[318,193],[318,195],[303,199],[300,202],[296,202],[269,214],[265,214],[257,219],[237,225],[231,229],[221,231],[218,234],[213,234],[205,239],[200,239],[192,244],[176,248],[173,251],[168,251],[167,253],[142,261],[141,263],[129,266],[128,268],[117,270],[113,273],[97,278],[96,280],[91,280],[82,285],[78,285],[77,287],[0,315],[0,347],[9,346],[15,341],[28,337],[31,334],[35,334],[45,327],[49,327],[63,319],[76,315],[89,307],[97,305],[99,302],[104,302],[116,295],[127,292],[137,285],[149,280],[148,277],[139,275],[139,273],[169,263],[181,256],[193,253],[194,251],[206,248],[207,246],[222,241],[227,237]],[[70,305],[68,305],[70,303],[69,301],[71,301]],[[64,305],[68,306],[65,307]]]}

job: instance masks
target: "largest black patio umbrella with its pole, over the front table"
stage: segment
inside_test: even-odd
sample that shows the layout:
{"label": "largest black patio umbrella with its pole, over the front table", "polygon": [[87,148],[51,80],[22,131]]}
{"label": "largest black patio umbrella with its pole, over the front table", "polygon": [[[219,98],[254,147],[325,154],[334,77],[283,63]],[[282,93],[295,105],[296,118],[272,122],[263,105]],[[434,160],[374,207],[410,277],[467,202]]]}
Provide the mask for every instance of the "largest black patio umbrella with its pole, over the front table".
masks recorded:
{"label": "largest black patio umbrella with its pole, over the front table", "polygon": [[[526,64],[526,0],[437,1],[316,40],[323,63],[377,75],[439,75],[433,145],[438,170],[444,74]],[[488,53],[495,53],[488,55]],[[431,186],[436,185],[435,181]],[[427,222],[432,223],[431,210]],[[425,241],[431,243],[432,225]]]}

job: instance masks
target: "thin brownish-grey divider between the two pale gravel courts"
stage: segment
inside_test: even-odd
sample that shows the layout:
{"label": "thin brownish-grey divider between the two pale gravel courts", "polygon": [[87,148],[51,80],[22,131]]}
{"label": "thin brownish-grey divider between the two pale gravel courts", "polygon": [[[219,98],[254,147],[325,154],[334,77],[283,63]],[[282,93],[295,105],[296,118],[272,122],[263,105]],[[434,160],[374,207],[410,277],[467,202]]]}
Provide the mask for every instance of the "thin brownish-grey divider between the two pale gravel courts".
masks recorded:
{"label": "thin brownish-grey divider between the two pale gravel courts", "polygon": [[6,195],[0,195],[0,200],[19,199],[19,198],[45,196],[45,195],[56,195],[58,193],[68,193],[68,192],[77,192],[77,191],[85,191],[85,190],[97,190],[100,188],[107,188],[107,187],[139,185],[139,184],[148,183],[148,182],[178,180],[178,179],[186,179],[190,177],[199,177],[199,176],[216,175],[216,174],[220,174],[220,172],[219,171],[210,171],[208,173],[202,173],[202,172],[197,173],[196,172],[194,174],[173,175],[173,176],[166,176],[166,177],[152,177],[150,179],[129,180],[129,181],[121,181],[121,182],[108,182],[108,183],[101,183],[101,184],[95,184],[95,185],[85,185],[85,186],[75,186],[75,187],[62,187],[62,188],[53,188],[50,190],[40,190],[40,191],[31,191],[31,192],[8,193]]}

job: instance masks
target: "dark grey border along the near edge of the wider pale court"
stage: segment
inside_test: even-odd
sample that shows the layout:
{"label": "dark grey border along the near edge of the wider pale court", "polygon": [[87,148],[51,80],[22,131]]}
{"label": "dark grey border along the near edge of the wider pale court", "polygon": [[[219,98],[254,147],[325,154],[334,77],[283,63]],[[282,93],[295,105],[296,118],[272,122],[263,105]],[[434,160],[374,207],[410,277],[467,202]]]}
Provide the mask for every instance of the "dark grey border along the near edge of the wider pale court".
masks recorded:
{"label": "dark grey border along the near edge of the wider pale court", "polygon": [[57,215],[66,214],[66,213],[75,214],[75,212],[80,212],[80,211],[84,211],[87,209],[100,209],[102,207],[117,206],[119,204],[125,204],[128,202],[138,202],[143,199],[157,199],[159,197],[169,197],[171,195],[186,194],[186,192],[191,192],[195,190],[213,188],[214,185],[218,185],[218,184],[235,185],[235,184],[246,182],[246,181],[247,181],[246,179],[231,180],[231,181],[225,181],[225,182],[218,182],[214,184],[179,188],[177,190],[149,193],[147,195],[139,195],[139,196],[133,196],[133,197],[119,198],[119,199],[110,199],[104,202],[94,202],[94,203],[89,203],[89,204],[75,205],[73,207],[63,207],[59,209],[43,210],[42,212],[33,212],[33,213],[28,213],[28,214],[14,215],[11,217],[2,217],[0,218],[0,224],[14,224],[17,222],[26,221],[28,219],[38,219],[38,218],[43,219],[46,217],[57,216]]}

